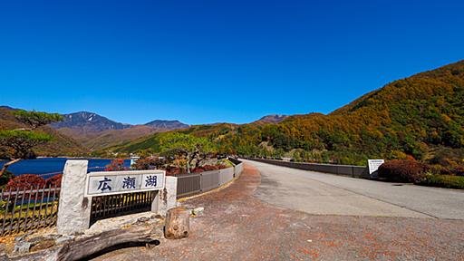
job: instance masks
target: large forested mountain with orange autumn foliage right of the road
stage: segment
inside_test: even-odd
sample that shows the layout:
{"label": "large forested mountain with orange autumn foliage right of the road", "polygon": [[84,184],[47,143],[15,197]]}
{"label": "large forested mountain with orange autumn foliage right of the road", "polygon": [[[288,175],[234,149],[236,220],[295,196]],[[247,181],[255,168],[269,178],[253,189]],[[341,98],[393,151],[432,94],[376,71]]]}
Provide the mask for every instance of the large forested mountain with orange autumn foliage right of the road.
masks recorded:
{"label": "large forested mountain with orange autumn foliage right of the road", "polygon": [[[193,126],[221,152],[365,164],[373,158],[464,164],[464,61],[391,82],[328,115],[276,124]],[[156,152],[154,134],[111,150]]]}

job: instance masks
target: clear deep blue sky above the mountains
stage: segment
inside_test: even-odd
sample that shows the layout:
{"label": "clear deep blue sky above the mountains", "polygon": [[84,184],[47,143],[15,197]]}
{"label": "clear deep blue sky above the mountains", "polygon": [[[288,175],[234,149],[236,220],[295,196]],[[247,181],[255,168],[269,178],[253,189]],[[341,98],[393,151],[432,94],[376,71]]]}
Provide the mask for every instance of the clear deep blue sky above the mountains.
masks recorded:
{"label": "clear deep blue sky above the mountains", "polygon": [[0,104],[115,121],[330,112],[464,59],[462,1],[2,1]]}

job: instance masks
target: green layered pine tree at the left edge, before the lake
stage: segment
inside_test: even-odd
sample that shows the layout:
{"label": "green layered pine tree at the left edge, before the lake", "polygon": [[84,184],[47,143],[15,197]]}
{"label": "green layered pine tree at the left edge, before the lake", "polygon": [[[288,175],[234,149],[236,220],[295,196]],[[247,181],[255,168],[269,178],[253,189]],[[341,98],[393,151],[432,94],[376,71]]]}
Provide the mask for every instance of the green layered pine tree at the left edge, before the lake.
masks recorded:
{"label": "green layered pine tree at the left edge, before the lake", "polygon": [[16,120],[25,124],[25,127],[0,131],[0,146],[5,148],[5,156],[9,159],[0,169],[0,177],[4,175],[8,167],[32,155],[34,147],[53,139],[50,134],[36,131],[37,128],[63,120],[63,116],[57,113],[23,110],[13,111],[12,113]]}

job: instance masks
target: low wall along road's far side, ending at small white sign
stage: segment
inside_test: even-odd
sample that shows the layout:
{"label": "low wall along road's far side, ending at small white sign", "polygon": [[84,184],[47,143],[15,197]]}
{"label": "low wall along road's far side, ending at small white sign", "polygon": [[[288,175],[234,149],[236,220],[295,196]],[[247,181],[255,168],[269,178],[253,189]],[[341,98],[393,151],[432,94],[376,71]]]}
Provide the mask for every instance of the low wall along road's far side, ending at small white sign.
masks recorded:
{"label": "low wall along road's far side, ending at small white sign", "polygon": [[349,176],[353,178],[364,178],[370,179],[369,169],[362,166],[353,165],[336,165],[336,164],[320,164],[320,163],[304,163],[304,162],[292,162],[284,160],[267,160],[248,158],[247,160],[255,160],[277,166],[283,166],[294,169],[312,170],[317,172],[330,173],[335,175]]}

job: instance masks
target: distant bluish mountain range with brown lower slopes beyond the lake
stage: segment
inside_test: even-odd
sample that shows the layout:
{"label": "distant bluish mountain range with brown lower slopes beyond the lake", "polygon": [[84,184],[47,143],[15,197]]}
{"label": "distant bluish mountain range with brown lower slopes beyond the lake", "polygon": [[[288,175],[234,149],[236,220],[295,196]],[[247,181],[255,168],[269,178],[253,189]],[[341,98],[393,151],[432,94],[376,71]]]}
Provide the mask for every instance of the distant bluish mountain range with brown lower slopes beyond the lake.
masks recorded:
{"label": "distant bluish mountain range with brown lower slopes beyond the lake", "polygon": [[[17,110],[9,106],[0,106],[0,130],[21,127],[9,111]],[[285,116],[268,115],[255,121],[258,124],[277,122]],[[222,123],[208,124],[217,125]],[[19,127],[18,127],[19,126]],[[145,124],[131,125],[112,121],[102,115],[90,111],[78,111],[63,114],[63,121],[45,127],[46,132],[57,139],[39,147],[38,155],[70,155],[80,156],[86,153],[103,150],[111,146],[138,140],[150,134],[189,129],[189,124],[180,121],[155,120]]]}

